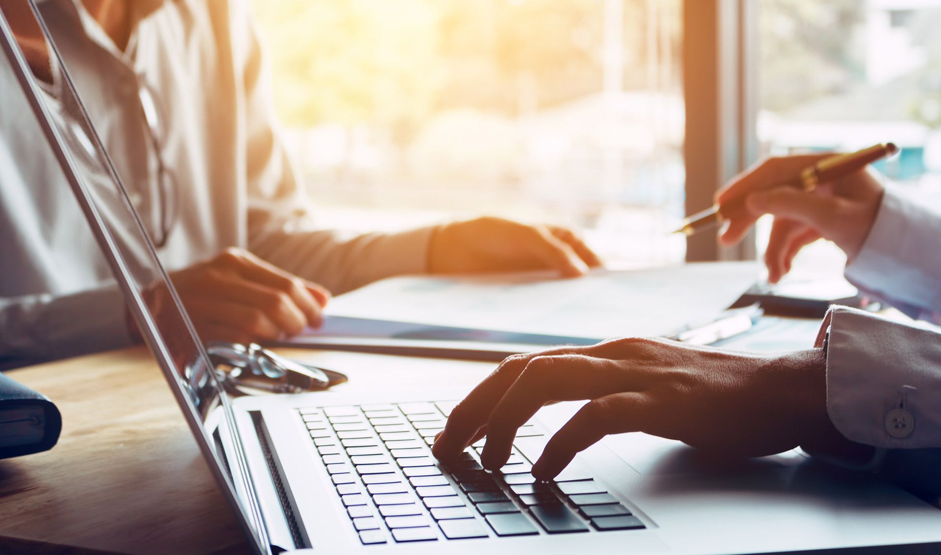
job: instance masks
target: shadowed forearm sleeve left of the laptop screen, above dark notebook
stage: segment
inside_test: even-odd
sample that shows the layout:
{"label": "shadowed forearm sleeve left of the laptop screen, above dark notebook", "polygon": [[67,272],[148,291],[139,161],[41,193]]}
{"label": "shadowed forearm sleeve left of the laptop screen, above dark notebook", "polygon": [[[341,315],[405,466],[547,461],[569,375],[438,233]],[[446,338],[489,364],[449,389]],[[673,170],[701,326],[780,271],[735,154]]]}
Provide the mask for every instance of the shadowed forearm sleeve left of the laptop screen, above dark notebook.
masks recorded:
{"label": "shadowed forearm sleeve left of the laptop screen, above dark notebook", "polygon": [[0,298],[0,369],[132,344],[117,285]]}

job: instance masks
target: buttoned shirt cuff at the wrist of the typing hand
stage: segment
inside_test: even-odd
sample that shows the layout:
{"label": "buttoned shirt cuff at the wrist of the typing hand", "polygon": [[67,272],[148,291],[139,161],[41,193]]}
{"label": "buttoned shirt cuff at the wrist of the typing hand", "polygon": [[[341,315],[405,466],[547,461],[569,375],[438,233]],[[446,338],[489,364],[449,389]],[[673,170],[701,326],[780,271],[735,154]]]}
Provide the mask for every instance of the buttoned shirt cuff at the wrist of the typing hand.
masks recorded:
{"label": "buttoned shirt cuff at the wrist of the typing hand", "polygon": [[827,413],[839,433],[882,449],[941,447],[941,333],[846,307],[827,313],[826,332]]}

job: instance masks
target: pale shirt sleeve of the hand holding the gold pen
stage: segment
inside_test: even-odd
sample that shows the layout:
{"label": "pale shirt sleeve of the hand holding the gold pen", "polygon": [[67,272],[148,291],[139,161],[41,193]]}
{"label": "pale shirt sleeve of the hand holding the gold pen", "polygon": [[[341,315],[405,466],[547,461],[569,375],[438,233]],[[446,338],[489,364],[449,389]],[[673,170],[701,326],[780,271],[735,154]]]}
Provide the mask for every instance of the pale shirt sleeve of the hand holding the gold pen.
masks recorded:
{"label": "pale shirt sleeve of the hand holding the gold pen", "polygon": [[941,324],[941,214],[891,189],[846,278],[906,315]]}

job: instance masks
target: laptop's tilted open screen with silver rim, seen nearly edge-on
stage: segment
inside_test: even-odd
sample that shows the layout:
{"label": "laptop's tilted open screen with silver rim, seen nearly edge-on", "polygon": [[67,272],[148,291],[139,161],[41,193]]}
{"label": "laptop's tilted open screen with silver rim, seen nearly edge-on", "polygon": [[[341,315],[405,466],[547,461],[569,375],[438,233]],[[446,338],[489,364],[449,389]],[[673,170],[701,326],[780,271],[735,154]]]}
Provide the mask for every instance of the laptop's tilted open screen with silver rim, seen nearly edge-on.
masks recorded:
{"label": "laptop's tilted open screen with silver rim, seen nearly edge-on", "polygon": [[[66,118],[71,118],[72,120],[65,121],[64,119],[56,119],[54,117],[49,106],[46,105],[49,98],[47,93],[39,86],[37,78],[30,70],[13,36],[5,14],[0,12],[0,39],[2,39],[0,43],[2,43],[9,66],[15,74],[20,86],[23,88],[25,98],[36,115],[41,131],[46,136],[50,148],[55,154],[59,166],[62,168],[62,173],[69,182],[75,198],[78,200],[82,211],[88,219],[89,227],[101,246],[105,258],[111,265],[112,272],[124,293],[127,305],[136,320],[138,329],[150,346],[153,356],[156,357],[157,361],[160,363],[160,367],[167,378],[167,383],[173,391],[177,403],[180,404],[183,409],[183,416],[193,436],[196,437],[199,443],[199,450],[212,469],[215,481],[218,483],[226,500],[229,501],[231,507],[235,510],[235,514],[238,516],[240,525],[246,532],[247,537],[251,538],[251,546],[253,549],[259,553],[270,553],[271,547],[268,543],[266,527],[264,526],[261,509],[258,506],[254,485],[248,475],[244,450],[241,448],[241,438],[234,433],[235,428],[231,425],[231,423],[234,422],[234,417],[231,411],[230,400],[225,391],[220,388],[215,381],[214,373],[210,372],[213,365],[209,361],[209,357],[207,357],[202,344],[197,340],[197,335],[189,322],[185,310],[183,310],[180,304],[180,300],[177,297],[173,285],[167,278],[162,264],[157,259],[150,237],[141,225],[134,206],[127,197],[123,184],[120,182],[120,177],[115,171],[100,138],[96,134],[94,126],[88,119],[85,107],[79,100],[78,94],[75,92],[72,79],[68,71],[65,70],[62,58],[56,50],[55,43],[48,29],[46,29],[45,24],[42,22],[36,4],[33,0],[29,0],[29,5],[32,8],[35,22],[40,26],[42,34],[47,41],[50,56],[52,56],[52,61],[54,62],[54,79],[58,81],[61,90],[61,98],[58,100],[63,103],[65,109],[69,112],[65,114]],[[66,128],[66,125],[78,125],[79,128]],[[122,223],[125,227],[120,231],[122,233],[136,235],[136,237],[130,238],[130,242],[136,243],[135,246],[146,246],[144,250],[138,248],[136,252],[133,252],[132,249],[124,248],[129,238],[126,236],[120,239],[116,237],[111,226],[113,219],[104,218],[102,216],[101,211],[103,207],[101,206],[101,200],[103,195],[99,195],[98,198],[96,198],[96,194],[91,191],[92,186],[89,186],[86,182],[88,176],[86,173],[83,173],[80,164],[76,161],[76,156],[70,149],[63,146],[68,144],[64,136],[68,133],[86,134],[84,138],[90,141],[97,157],[95,162],[98,163],[98,167],[95,169],[99,170],[99,175],[96,177],[102,178],[102,181],[95,183],[95,186],[101,187],[103,183],[105,183],[106,186],[106,183],[110,182],[112,188],[102,191],[103,194],[113,195],[113,197],[109,198],[111,202],[109,202],[107,210],[121,214],[123,218]],[[86,161],[86,167],[84,169],[88,170],[88,161]],[[128,259],[130,257],[141,257],[142,260],[129,261]],[[155,281],[141,283],[139,276],[135,276],[131,269],[131,266],[135,265],[137,268],[145,267],[151,270],[155,269],[155,275],[147,277],[153,278]],[[165,341],[165,338],[162,337],[162,334],[158,331],[157,324],[154,321],[154,314],[152,314],[151,309],[148,308],[143,296],[146,290],[154,289],[163,289],[170,296],[173,309],[178,312],[178,314],[173,317],[179,319],[180,322],[178,324],[183,326],[185,335],[189,337],[188,341],[186,341],[185,337],[175,338],[178,344],[174,346],[174,350],[177,351],[176,354],[179,355],[180,347],[182,346],[180,343],[185,344],[189,342],[190,345],[187,346],[191,348],[189,349],[187,360],[174,360],[173,353],[171,353],[167,341]],[[161,317],[163,317],[163,315],[161,315]],[[192,393],[186,394],[184,392],[186,390]],[[199,404],[199,406],[197,404]],[[218,410],[223,412],[224,420],[229,422],[230,425],[221,426],[216,430],[216,433],[227,434],[226,439],[231,443],[233,449],[226,452],[225,455],[228,457],[234,455],[236,459],[234,464],[223,464],[220,453],[215,450],[215,439],[206,430],[203,425],[203,417],[200,416],[200,412],[204,412],[206,413],[204,416],[208,416],[210,413]],[[223,468],[229,468],[233,476],[230,478],[230,476],[223,471]],[[232,480],[234,480],[234,483]],[[238,495],[236,484],[245,492],[245,495],[241,497]],[[245,501],[247,506],[243,504],[243,501]]]}

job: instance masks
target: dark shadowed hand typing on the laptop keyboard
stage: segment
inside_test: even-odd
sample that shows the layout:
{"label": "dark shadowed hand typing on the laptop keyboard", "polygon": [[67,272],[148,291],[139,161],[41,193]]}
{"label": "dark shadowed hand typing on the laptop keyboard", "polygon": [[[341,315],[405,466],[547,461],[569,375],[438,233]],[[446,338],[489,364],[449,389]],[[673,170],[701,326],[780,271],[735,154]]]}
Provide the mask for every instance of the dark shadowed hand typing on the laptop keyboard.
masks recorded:
{"label": "dark shadowed hand typing on the laptop keyboard", "polygon": [[827,417],[824,369],[821,349],[758,355],[661,339],[509,357],[455,406],[433,452],[448,460],[486,436],[481,462],[501,468],[517,428],[540,407],[579,400],[588,403],[550,439],[536,478],[550,480],[608,434],[646,432],[742,456],[833,442],[841,436]]}

